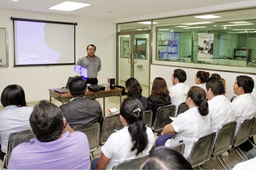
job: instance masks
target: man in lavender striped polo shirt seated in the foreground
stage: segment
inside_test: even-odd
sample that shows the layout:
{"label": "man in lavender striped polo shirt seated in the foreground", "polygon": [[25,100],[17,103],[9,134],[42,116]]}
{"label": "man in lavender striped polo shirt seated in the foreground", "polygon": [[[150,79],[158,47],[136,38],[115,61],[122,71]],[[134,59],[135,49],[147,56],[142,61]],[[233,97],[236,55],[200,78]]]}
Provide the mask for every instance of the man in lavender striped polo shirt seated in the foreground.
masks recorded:
{"label": "man in lavender striped polo shirt seated in the foreground", "polygon": [[71,129],[60,108],[42,100],[29,121],[36,139],[12,150],[8,169],[90,169],[88,139]]}

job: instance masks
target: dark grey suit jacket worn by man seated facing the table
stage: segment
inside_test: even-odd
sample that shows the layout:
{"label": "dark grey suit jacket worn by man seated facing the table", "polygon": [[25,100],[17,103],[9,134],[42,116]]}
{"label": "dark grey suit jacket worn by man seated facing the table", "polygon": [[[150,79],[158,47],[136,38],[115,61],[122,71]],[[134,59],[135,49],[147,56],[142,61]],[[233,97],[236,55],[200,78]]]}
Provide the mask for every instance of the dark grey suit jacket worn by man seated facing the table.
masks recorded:
{"label": "dark grey suit jacket worn by man seated facing the table", "polygon": [[74,98],[71,102],[60,106],[60,109],[70,127],[81,127],[96,122],[100,123],[100,126],[102,127],[102,109],[97,100],[78,97]]}

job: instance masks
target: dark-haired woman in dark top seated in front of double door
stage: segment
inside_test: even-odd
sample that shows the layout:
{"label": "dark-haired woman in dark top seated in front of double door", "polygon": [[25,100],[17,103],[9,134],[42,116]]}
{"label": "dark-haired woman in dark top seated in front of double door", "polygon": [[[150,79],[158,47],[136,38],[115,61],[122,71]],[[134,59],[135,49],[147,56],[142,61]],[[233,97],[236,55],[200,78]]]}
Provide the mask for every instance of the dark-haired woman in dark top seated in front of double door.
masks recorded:
{"label": "dark-haired woman in dark top seated in front of double door", "polygon": [[147,98],[142,96],[142,88],[136,78],[128,78],[125,81],[127,98],[136,98],[140,100],[143,110],[146,111],[148,107]]}

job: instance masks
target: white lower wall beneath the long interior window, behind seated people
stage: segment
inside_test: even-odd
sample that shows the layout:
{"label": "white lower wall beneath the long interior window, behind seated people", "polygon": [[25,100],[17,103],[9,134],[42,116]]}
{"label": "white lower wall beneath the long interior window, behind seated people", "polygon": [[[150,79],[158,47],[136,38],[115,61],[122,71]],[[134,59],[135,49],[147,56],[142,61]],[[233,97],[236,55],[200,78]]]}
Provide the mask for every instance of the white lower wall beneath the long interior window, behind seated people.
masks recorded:
{"label": "white lower wall beneath the long interior window, behind seated people", "polygon": [[[160,65],[151,65],[151,72],[150,72],[150,82],[153,82],[154,78],[162,77],[166,80],[168,87],[172,87],[172,73],[173,70],[178,69],[180,67],[174,66],[160,66]],[[202,69],[195,69],[195,68],[180,68],[184,70],[187,74],[187,80],[185,84],[188,86],[196,86],[195,84],[195,75],[196,72]],[[206,72],[210,72],[210,74],[218,73],[220,74],[221,78],[226,80],[226,97],[228,100],[232,98],[232,96],[236,96],[233,92],[233,84],[236,81],[236,77],[240,75],[246,75],[253,78],[254,83],[256,82],[256,75],[252,74],[240,74],[240,73],[233,73],[233,72],[220,72],[220,71],[211,71],[211,70],[204,70]],[[255,84],[254,84],[255,86]]]}

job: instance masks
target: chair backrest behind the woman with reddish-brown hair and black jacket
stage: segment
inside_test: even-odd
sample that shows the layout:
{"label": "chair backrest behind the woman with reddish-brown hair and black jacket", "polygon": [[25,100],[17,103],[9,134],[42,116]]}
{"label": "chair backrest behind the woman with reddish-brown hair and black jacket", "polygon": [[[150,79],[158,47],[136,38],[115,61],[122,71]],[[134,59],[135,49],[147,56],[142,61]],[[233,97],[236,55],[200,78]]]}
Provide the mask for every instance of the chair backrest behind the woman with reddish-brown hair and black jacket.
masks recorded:
{"label": "chair backrest behind the woman with reddish-brown hair and black jacket", "polygon": [[159,107],[156,111],[156,120],[154,124],[154,131],[160,132],[164,129],[165,125],[171,123],[171,119],[169,117],[175,116],[175,106],[168,105]]}

